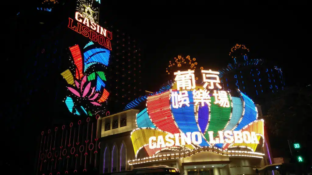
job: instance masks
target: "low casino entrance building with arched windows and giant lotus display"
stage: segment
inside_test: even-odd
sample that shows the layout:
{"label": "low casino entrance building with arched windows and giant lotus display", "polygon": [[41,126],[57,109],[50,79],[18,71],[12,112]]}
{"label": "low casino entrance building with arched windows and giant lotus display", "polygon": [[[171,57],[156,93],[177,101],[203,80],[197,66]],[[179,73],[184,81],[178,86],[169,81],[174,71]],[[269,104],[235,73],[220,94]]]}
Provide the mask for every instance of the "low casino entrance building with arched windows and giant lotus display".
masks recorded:
{"label": "low casino entrance building with arched windows and giant lotus display", "polygon": [[[200,84],[185,91],[178,86],[173,82],[170,90],[149,95],[144,110],[100,119],[100,173],[168,165],[185,175],[256,174],[272,164],[261,106],[238,89],[221,92],[227,94],[222,103],[211,86],[210,93]],[[201,105],[197,91],[206,92],[208,101]],[[184,99],[176,100],[179,95]]]}

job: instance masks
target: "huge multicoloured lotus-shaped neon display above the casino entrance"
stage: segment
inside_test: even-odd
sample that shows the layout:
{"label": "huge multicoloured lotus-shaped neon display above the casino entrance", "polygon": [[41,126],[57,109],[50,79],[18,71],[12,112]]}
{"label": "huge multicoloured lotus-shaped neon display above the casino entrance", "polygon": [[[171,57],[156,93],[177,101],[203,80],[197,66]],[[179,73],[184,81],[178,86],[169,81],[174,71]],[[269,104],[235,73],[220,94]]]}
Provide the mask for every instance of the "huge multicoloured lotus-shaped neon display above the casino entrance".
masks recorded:
{"label": "huge multicoloured lotus-shaped neon display above the casino entrance", "polygon": [[[220,98],[218,90],[211,91],[211,84],[208,90],[212,93],[207,95],[203,85],[185,82],[182,91],[181,82],[175,82],[169,91],[147,98],[146,108],[136,116],[138,128],[131,133],[136,157],[143,148],[154,156],[165,149],[193,152],[198,148],[227,151],[243,147],[255,152],[258,144],[263,146],[264,121],[258,120],[257,108],[249,97],[238,90],[240,97],[223,91]],[[198,102],[196,91],[203,92],[206,101]]]}

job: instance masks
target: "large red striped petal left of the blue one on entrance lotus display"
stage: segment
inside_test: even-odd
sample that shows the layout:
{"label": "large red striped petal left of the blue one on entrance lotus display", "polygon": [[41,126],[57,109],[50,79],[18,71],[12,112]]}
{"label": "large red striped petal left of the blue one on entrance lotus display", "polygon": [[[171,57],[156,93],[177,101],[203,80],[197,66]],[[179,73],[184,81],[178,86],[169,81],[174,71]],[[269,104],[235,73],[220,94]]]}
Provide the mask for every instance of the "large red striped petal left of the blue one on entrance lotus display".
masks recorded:
{"label": "large red striped petal left of the blue one on entrance lotus display", "polygon": [[147,99],[147,112],[156,127],[175,134],[180,133],[170,110],[170,91],[150,96]]}

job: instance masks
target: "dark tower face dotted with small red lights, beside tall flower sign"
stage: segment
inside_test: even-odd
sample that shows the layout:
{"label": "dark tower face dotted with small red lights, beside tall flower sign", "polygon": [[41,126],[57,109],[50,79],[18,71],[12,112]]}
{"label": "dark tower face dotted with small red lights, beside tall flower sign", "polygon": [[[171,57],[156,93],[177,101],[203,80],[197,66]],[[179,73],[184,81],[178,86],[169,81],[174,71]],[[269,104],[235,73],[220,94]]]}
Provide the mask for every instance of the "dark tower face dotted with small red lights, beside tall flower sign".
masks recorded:
{"label": "dark tower face dotted with small red lights, beside tall flower sign", "polygon": [[129,34],[114,26],[107,25],[107,29],[112,31],[114,37],[108,83],[112,92],[109,97],[110,110],[116,113],[145,93],[142,90],[142,51],[139,42]]}

